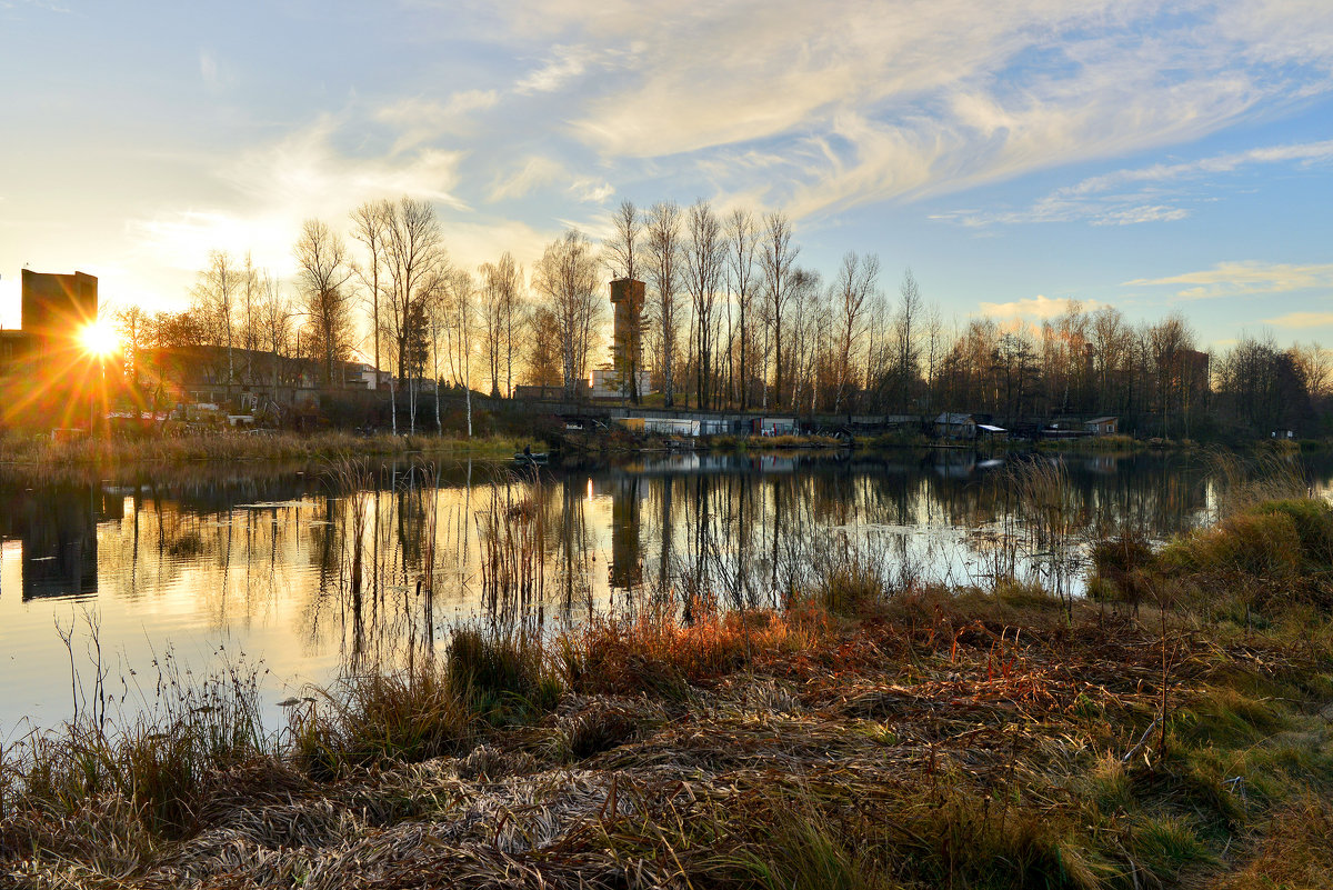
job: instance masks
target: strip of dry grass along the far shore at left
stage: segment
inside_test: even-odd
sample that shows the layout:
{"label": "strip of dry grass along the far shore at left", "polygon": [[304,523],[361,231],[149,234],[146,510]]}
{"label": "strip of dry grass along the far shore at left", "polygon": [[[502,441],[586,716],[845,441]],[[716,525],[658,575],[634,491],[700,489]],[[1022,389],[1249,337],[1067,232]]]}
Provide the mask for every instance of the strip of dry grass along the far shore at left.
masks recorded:
{"label": "strip of dry grass along the far shore at left", "polygon": [[[528,442],[531,445],[531,442]],[[191,461],[296,461],[341,454],[475,454],[509,457],[524,442],[505,437],[355,436],[344,432],[273,433],[224,432],[181,437],[76,438],[7,434],[0,438],[0,465],[63,468],[124,464],[184,464]]]}

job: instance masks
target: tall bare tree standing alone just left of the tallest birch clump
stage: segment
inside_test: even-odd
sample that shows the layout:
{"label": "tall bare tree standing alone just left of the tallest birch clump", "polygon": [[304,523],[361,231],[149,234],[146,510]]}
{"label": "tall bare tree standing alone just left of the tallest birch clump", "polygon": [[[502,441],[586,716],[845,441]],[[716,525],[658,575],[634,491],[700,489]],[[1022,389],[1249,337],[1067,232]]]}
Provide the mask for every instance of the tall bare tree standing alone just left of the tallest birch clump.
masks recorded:
{"label": "tall bare tree standing alone just left of the tallest birch clump", "polygon": [[[333,384],[335,368],[347,358],[352,341],[351,289],[347,245],[320,220],[307,220],[296,241],[297,278],[305,310],[315,326],[311,354],[324,366],[324,382]],[[341,384],[341,374],[337,374]]]}

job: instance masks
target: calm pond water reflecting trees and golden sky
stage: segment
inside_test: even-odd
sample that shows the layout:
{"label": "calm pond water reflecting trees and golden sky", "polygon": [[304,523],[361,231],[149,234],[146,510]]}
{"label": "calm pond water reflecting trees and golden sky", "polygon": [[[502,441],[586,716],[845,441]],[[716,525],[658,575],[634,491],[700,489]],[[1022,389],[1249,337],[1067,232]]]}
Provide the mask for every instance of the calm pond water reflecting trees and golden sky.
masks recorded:
{"label": "calm pond water reflecting trees and golden sky", "polygon": [[[1078,534],[1129,522],[1162,537],[1206,521],[1212,489],[1198,458],[1056,460]],[[139,683],[151,698],[143,678],[171,652],[196,671],[221,660],[259,665],[276,718],[276,702],[303,683],[439,646],[455,622],[505,605],[505,593],[559,626],[692,592],[780,602],[845,552],[894,581],[1046,578],[1008,469],[962,452],[672,454],[553,466],[536,481],[505,465],[399,461],[352,480],[251,466],[7,482],[0,741],[69,717],[71,662],[87,687],[95,644],[108,693],[127,707],[144,694]],[[1324,469],[1312,481],[1329,478]],[[531,584],[505,585],[511,560],[497,554],[527,561]],[[60,632],[72,632],[72,658]]]}

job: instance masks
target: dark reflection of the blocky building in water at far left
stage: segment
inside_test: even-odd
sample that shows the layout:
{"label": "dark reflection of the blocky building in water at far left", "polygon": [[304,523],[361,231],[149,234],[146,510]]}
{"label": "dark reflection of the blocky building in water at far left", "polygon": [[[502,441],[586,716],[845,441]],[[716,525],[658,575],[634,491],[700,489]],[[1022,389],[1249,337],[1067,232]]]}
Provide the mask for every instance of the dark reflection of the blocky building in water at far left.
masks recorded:
{"label": "dark reflection of the blocky building in water at far left", "polygon": [[[120,504],[120,498],[112,498]],[[97,518],[103,498],[92,489],[15,492],[0,533],[23,544],[23,598],[97,593]]]}

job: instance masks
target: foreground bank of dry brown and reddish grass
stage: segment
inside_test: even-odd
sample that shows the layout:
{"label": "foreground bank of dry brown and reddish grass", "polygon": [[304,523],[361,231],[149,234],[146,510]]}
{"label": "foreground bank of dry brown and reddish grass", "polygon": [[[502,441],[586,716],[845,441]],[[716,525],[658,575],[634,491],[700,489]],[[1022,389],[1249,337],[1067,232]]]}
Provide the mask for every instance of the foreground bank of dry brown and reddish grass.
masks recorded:
{"label": "foreground bank of dry brown and reddish grass", "polygon": [[276,734],[233,670],[0,753],[0,875],[1330,886],[1333,512],[1261,494],[1161,549],[1100,542],[1097,600],[850,560],[781,610],[464,625]]}

